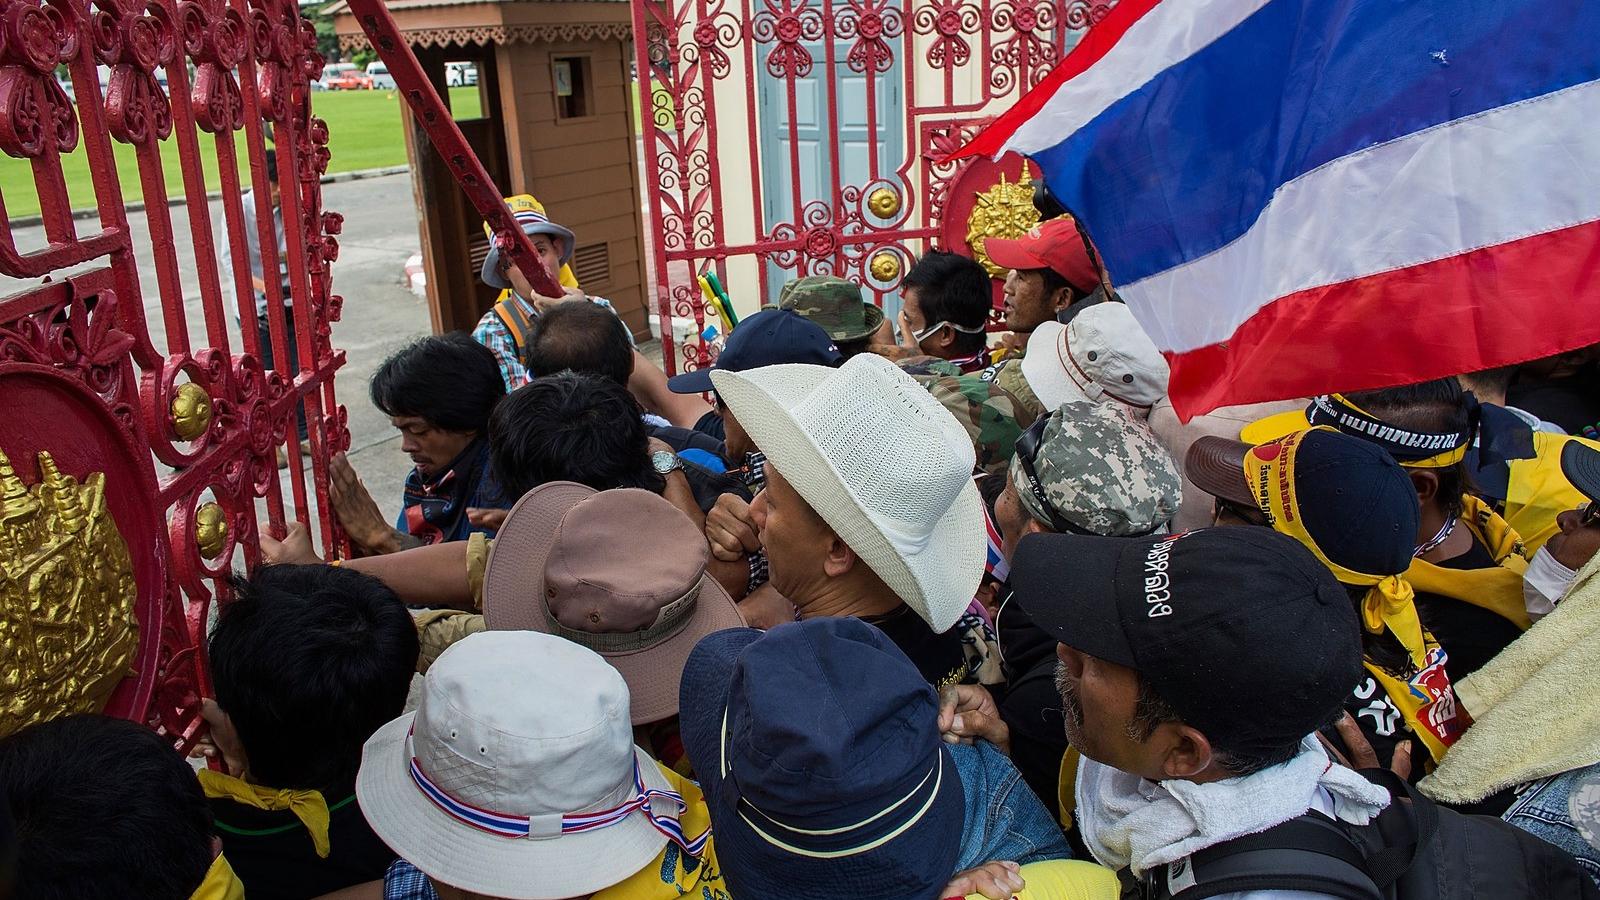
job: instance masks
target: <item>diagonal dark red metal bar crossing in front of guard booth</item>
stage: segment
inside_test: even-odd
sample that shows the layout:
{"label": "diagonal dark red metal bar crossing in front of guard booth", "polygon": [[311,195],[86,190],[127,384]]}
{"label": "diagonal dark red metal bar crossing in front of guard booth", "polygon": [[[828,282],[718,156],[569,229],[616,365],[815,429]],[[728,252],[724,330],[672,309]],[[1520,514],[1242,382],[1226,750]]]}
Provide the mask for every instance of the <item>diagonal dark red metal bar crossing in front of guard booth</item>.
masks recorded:
{"label": "diagonal dark red metal bar crossing in front of guard booth", "polygon": [[366,40],[378,51],[378,58],[389,67],[389,74],[413,115],[422,123],[427,139],[434,143],[438,155],[450,167],[450,173],[456,176],[456,184],[461,186],[472,208],[483,216],[483,221],[490,223],[490,231],[494,232],[494,247],[509,255],[534,291],[544,296],[562,296],[562,285],[539,263],[533,242],[512,218],[501,189],[490,179],[478,155],[467,146],[466,136],[461,135],[461,128],[451,119],[445,101],[434,90],[434,82],[422,74],[422,64],[416,61],[416,53],[411,53],[405,38],[400,37],[400,29],[382,0],[349,0],[349,5],[350,13],[362,22]]}

